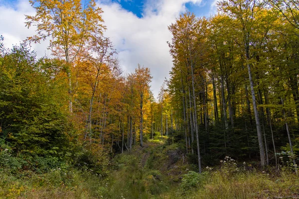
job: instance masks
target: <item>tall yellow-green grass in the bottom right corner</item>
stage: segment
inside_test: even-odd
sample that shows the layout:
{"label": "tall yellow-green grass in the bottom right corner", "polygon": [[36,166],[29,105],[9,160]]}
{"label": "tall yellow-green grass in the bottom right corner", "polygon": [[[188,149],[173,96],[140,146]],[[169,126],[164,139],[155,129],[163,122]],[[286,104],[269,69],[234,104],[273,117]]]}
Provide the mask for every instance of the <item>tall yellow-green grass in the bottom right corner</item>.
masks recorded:
{"label": "tall yellow-green grass in the bottom right corner", "polygon": [[281,176],[238,173],[228,178],[221,173],[211,174],[205,186],[188,193],[187,199],[272,199],[298,197],[299,178],[293,173]]}

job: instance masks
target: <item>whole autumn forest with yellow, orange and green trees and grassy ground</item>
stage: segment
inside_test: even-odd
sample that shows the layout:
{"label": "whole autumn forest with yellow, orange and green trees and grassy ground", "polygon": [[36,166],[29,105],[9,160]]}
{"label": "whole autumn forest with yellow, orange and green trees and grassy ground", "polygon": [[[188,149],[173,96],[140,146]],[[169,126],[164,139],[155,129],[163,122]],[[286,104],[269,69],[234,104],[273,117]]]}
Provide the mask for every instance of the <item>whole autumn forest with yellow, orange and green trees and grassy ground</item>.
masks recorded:
{"label": "whole autumn forest with yellow, orange and green trees and grassy ground", "polygon": [[36,34],[0,36],[0,198],[299,198],[297,0],[181,13],[156,99],[150,68],[122,71],[95,0],[28,3]]}

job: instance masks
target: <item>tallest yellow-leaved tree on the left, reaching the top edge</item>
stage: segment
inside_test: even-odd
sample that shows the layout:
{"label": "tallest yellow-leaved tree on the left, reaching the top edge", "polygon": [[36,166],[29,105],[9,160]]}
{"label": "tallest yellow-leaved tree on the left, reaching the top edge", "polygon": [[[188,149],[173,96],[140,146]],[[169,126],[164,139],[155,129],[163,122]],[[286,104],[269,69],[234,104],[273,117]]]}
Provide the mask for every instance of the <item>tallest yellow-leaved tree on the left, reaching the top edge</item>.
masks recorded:
{"label": "tallest yellow-leaved tree on the left, reaching the top edge", "polygon": [[68,64],[69,110],[72,108],[72,62],[81,49],[96,36],[102,35],[102,9],[95,0],[89,0],[82,7],[81,0],[30,0],[36,14],[26,15],[26,26],[36,26],[37,34],[27,39],[39,42],[50,37],[53,54],[65,58]]}

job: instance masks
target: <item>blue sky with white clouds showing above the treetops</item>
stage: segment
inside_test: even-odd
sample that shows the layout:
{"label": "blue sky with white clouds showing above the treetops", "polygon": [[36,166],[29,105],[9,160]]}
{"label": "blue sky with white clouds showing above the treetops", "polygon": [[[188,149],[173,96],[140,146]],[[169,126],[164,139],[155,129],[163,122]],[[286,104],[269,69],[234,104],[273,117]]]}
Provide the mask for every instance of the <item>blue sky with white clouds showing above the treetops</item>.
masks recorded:
{"label": "blue sky with white clouds showing above the treetops", "polygon": [[[118,51],[117,58],[125,74],[134,72],[138,64],[148,67],[153,77],[151,90],[157,97],[172,67],[167,41],[171,33],[167,26],[175,22],[180,13],[190,11],[196,16],[216,12],[215,0],[96,0],[104,11],[102,17],[109,37]],[[4,47],[11,48],[35,29],[25,27],[25,16],[35,11],[28,0],[0,0],[0,35]],[[31,44],[38,57],[50,56],[48,41]]]}

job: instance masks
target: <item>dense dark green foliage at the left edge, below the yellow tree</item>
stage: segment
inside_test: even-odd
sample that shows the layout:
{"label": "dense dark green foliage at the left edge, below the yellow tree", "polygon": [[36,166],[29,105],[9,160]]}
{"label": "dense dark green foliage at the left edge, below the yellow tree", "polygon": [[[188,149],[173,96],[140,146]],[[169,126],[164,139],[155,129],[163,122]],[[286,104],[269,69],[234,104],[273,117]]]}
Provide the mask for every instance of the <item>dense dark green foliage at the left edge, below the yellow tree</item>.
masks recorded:
{"label": "dense dark green foliage at the left edge, below the yellow tree", "polygon": [[6,51],[0,63],[0,138],[30,165],[33,157],[62,158],[71,150],[62,101],[55,98],[61,85],[46,62],[23,43]]}

